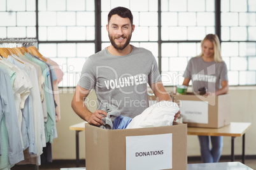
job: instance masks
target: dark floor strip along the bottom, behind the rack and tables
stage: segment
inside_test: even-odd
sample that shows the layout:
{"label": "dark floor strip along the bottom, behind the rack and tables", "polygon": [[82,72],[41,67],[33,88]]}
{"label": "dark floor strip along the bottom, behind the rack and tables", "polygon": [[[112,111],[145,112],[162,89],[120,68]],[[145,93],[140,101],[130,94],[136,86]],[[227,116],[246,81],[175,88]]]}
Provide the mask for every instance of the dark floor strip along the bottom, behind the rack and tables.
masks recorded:
{"label": "dark floor strip along the bottom, behind the rack and tables", "polygon": [[[220,162],[229,162],[230,160],[220,159]],[[236,162],[241,162],[241,160],[235,160]],[[188,164],[198,164],[201,163],[201,160],[189,160]],[[245,165],[256,169],[256,159],[246,159]],[[76,167],[75,160],[53,160],[52,163],[43,164],[39,166],[40,170],[60,170],[63,167]],[[80,161],[80,167],[85,167],[85,160]],[[11,170],[35,170],[36,166],[34,165],[24,165],[24,166],[14,166]]]}

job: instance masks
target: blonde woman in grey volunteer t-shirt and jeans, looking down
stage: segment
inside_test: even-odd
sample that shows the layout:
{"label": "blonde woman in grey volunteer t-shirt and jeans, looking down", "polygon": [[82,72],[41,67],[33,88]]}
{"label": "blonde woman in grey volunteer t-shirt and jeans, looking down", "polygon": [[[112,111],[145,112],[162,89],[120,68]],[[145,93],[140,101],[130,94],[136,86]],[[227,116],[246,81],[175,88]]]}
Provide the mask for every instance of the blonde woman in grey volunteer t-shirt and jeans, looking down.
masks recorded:
{"label": "blonde woman in grey volunteer t-shirt and jeans, looking down", "polygon": [[[183,85],[192,80],[192,91],[208,89],[205,95],[218,96],[229,91],[227,65],[222,60],[220,41],[216,34],[208,34],[201,41],[201,54],[189,60]],[[204,163],[218,162],[222,154],[223,136],[198,136]],[[211,148],[210,148],[211,140]]]}

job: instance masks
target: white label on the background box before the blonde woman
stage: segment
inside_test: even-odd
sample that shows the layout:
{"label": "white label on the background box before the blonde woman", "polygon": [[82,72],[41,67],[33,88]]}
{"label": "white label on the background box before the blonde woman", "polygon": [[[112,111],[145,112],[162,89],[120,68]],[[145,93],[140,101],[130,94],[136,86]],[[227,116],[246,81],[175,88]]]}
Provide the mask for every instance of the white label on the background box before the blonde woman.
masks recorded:
{"label": "white label on the background box before the blonde woman", "polygon": [[208,124],[208,101],[181,100],[183,122]]}

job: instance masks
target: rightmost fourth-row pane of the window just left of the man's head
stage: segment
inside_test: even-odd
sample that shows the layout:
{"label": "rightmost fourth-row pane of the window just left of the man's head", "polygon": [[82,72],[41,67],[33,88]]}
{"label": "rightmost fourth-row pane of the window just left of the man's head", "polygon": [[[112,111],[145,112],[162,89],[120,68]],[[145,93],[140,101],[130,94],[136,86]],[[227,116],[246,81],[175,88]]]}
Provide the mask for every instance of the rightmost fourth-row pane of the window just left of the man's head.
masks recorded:
{"label": "rightmost fourth-row pane of the window just left of the man's head", "polygon": [[76,45],[76,56],[89,57],[95,53],[94,43],[79,43]]}

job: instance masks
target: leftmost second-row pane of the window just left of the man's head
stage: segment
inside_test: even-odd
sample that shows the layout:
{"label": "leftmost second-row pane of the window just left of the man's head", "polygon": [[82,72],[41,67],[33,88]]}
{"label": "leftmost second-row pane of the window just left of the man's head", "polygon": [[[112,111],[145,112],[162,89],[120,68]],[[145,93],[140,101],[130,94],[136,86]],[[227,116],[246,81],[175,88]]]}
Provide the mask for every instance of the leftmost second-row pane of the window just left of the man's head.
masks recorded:
{"label": "leftmost second-row pane of the window just left of the man's head", "polygon": [[38,25],[39,26],[55,26],[57,24],[56,12],[39,12]]}

